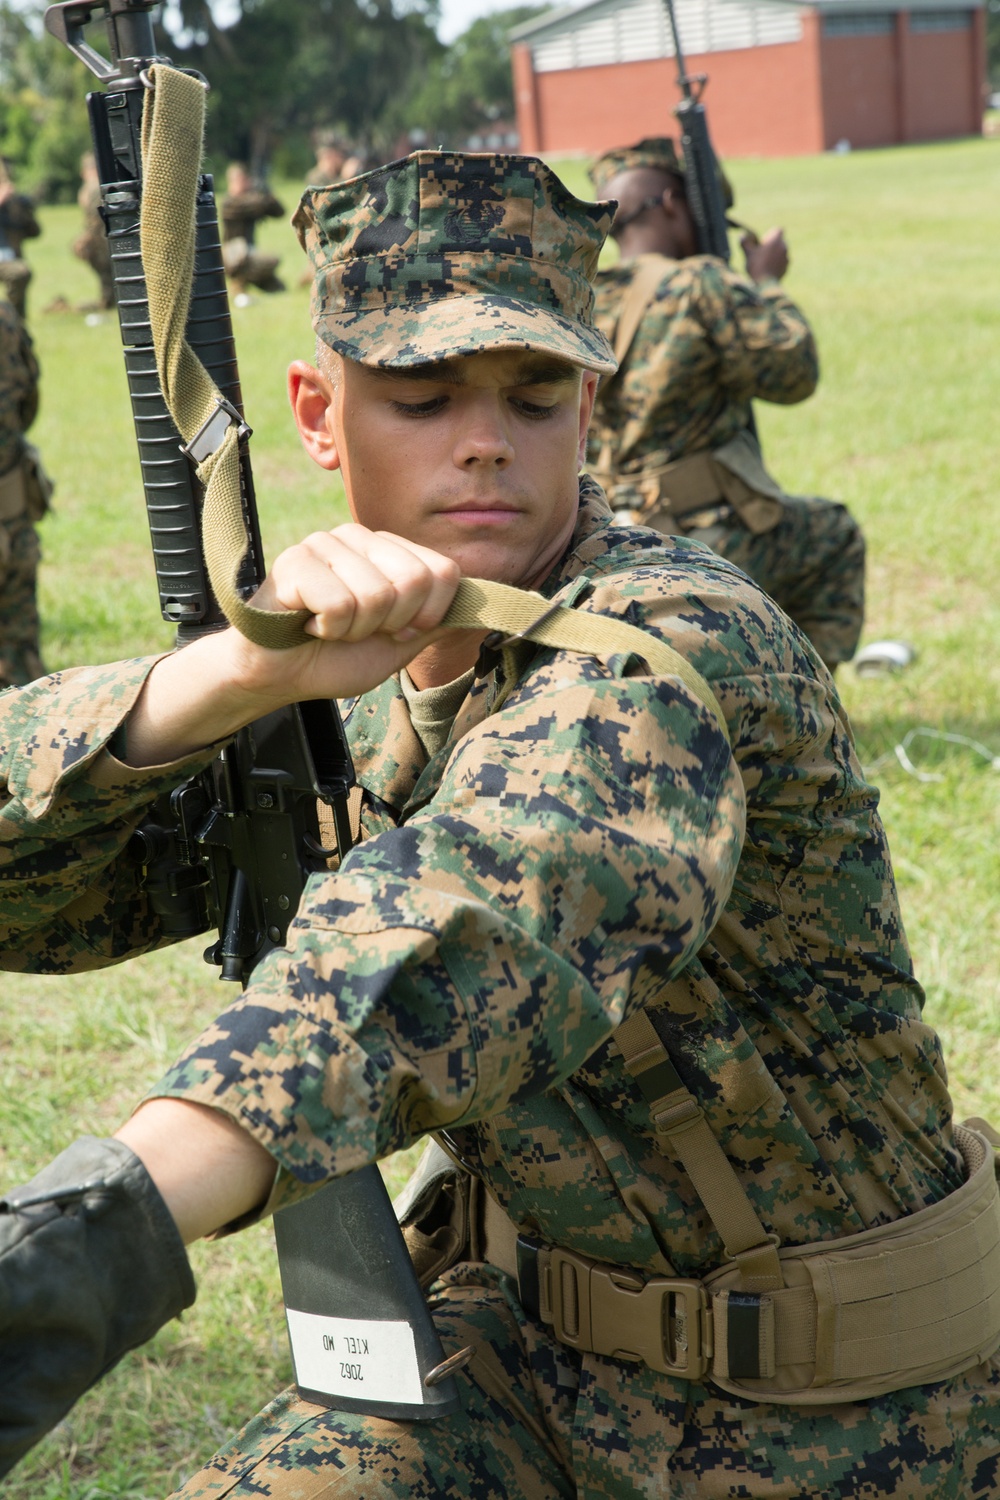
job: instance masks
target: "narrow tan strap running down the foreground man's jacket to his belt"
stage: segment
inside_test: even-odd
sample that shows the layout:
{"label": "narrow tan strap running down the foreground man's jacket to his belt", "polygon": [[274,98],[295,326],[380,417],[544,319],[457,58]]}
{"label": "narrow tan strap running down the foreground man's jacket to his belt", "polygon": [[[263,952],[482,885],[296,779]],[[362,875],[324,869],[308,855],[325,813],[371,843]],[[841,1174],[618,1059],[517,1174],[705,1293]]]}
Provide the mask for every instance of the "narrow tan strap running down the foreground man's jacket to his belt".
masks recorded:
{"label": "narrow tan strap running down the foreground man's jacket to his belt", "polygon": [[691,1179],[697,1196],[723,1238],[726,1254],[739,1268],[747,1292],[774,1292],[784,1286],[778,1242],[750,1203],[736,1172],[685,1088],[645,1011],[615,1029],[625,1068],[643,1092],[657,1136]]}

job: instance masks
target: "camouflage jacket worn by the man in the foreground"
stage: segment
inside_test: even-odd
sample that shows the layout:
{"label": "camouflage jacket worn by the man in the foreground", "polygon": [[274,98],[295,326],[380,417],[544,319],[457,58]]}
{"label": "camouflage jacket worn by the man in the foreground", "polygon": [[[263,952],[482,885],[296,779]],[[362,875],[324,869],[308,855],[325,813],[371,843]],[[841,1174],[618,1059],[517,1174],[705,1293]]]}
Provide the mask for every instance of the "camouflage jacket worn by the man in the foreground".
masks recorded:
{"label": "camouflage jacket worn by the man in the foreground", "polygon": [[[543,1239],[684,1275],[723,1252],[612,1041],[645,1005],[786,1244],[952,1191],[964,1173],[877,792],[805,639],[702,546],[613,525],[589,482],[544,591],[669,639],[711,680],[732,753],[700,700],[633,657],[525,645],[501,706],[493,668],[430,762],[387,681],[348,717],[364,842],[312,878],[288,948],[154,1092],[262,1142],[274,1204],[444,1128]],[[148,666],[0,699],[9,968],[162,940],[115,856],[208,752],[115,760]]]}

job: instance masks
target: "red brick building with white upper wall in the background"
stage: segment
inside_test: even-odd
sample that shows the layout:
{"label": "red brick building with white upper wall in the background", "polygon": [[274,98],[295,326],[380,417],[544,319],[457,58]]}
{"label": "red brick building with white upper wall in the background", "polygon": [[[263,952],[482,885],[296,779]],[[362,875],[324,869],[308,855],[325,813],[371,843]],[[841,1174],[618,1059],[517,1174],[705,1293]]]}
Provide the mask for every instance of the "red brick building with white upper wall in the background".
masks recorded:
{"label": "red brick building with white upper wall in the background", "polygon": [[[982,0],[675,0],[721,156],[795,156],[982,132]],[[673,134],[661,0],[588,0],[511,32],[520,148]]]}

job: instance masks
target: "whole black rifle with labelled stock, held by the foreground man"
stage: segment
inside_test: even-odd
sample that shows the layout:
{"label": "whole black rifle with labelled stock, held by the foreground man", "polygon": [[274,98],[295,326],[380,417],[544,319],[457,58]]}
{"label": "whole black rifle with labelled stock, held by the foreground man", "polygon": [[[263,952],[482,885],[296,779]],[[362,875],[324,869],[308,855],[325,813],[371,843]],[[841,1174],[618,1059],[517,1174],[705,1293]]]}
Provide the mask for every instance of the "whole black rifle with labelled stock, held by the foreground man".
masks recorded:
{"label": "whole black rifle with labelled stock, held by the foreground man", "polygon": [[[45,12],[45,27],[106,86],[106,92],[87,96],[100,214],[111,246],[160,612],[177,626],[177,642],[184,645],[223,628],[226,620],[211,592],[201,546],[202,489],[159,384],[139,254],[142,104],[150,87],[148,69],[154,63],[169,64],[154,45],[150,12],[157,4],[159,0],[63,0]],[[106,20],[111,60],[84,38],[84,27],[100,15]],[[222,392],[228,420],[240,423],[247,536],[240,588],[249,597],[264,580],[265,568],[247,448],[250,429],[243,422],[208,174],[199,178],[195,225],[186,338]],[[133,836],[130,852],[142,866],[144,886],[163,933],[181,939],[217,930],[205,958],[219,966],[220,978],[246,984],[259,960],[283,944],[309,876],[324,870],[331,854],[348,852],[352,783],[351,753],[333,700],[291,705],[241,729],[207,771],[160,798]],[[318,801],[331,808],[336,849],[322,848]],[[436,1372],[444,1358],[441,1344],[378,1168],[367,1167],[282,1210],[274,1227],[292,1356],[304,1394],[325,1404],[385,1416],[420,1418],[451,1410],[457,1392],[451,1380]],[[309,1323],[306,1344],[298,1347],[294,1318]],[[346,1360],[349,1395],[339,1394],[331,1371],[337,1354],[343,1359],[343,1346],[337,1344],[343,1330],[333,1324],[349,1320],[372,1320],[378,1329],[390,1330],[382,1340],[387,1348],[375,1353],[388,1354],[397,1368],[408,1354],[399,1329],[409,1329],[412,1378],[403,1395],[363,1400],[358,1384],[363,1365],[357,1359]],[[301,1368],[300,1350],[307,1356]]]}

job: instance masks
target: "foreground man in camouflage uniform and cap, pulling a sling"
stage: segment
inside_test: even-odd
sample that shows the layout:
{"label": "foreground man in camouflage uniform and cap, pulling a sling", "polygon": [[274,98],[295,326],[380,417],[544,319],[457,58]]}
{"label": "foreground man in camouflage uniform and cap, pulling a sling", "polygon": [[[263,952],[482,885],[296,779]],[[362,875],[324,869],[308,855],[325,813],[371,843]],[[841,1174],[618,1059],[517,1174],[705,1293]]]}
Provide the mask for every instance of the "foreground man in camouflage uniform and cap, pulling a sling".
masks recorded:
{"label": "foreground man in camouflage uniform and cap, pulling a sling", "polygon": [[[267,652],[223,632],[0,700],[0,962],[48,972],[169,940],[123,856],[156,794],[264,704],[349,700],[360,844],[120,1140],[184,1239],[433,1131],[490,1204],[484,1250],[430,1294],[445,1350],[474,1352],[459,1413],[408,1425],[286,1392],[183,1500],[987,1500],[1000,1482],[996,1233],[954,1368],[915,1380],[895,1330],[867,1340],[889,1371],[864,1398],[861,1378],[816,1404],[777,1394],[847,1358],[810,1323],[807,1254],[874,1230],[892,1262],[976,1180],[996,1230],[996,1178],[984,1148],[966,1180],[879,795],[829,675],[729,562],[616,524],[577,480],[591,370],[612,366],[589,291],[606,226],[520,158],[420,153],[309,194],[324,344],[289,390],[355,522],[283,554],[258,603],[310,610],[315,639]],[[726,730],[640,656],[520,640],[498,658],[442,634],[459,572],[670,642]],[[591,1292],[577,1314],[615,1306],[610,1328],[574,1322],[570,1274]],[[927,1286],[936,1353],[940,1263]],[[618,1342],[636,1305],[642,1358]],[[24,1334],[6,1316],[0,1353]],[[0,1455],[7,1401],[0,1382]]]}

